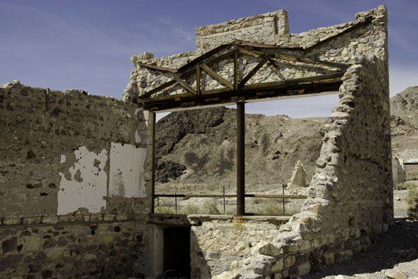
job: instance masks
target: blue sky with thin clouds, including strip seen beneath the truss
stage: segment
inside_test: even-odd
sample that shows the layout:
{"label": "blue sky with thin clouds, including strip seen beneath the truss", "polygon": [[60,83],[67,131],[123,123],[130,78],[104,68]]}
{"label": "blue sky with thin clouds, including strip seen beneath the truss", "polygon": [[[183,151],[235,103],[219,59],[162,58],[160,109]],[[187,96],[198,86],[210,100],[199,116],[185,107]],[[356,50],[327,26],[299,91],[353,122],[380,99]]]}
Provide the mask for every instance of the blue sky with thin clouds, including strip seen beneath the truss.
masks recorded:
{"label": "blue sky with thin clouds, including strip seen beneath the truss", "polygon": [[[0,0],[0,82],[20,80],[56,90],[83,89],[121,98],[134,69],[130,54],[167,56],[195,50],[195,28],[240,17],[288,11],[291,33],[389,10],[391,95],[418,85],[418,1],[4,1]],[[248,104],[247,112],[327,116],[337,97]]]}

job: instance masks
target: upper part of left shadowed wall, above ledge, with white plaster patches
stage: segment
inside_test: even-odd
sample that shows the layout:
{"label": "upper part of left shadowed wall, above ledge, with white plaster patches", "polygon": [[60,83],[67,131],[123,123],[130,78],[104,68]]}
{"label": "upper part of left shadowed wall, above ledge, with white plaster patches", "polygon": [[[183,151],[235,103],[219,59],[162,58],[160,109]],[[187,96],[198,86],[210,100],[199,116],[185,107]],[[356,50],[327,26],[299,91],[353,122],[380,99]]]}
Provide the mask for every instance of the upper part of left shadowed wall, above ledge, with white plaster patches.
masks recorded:
{"label": "upper part of left shadowed wall, above ledge, with white plaster patches", "polygon": [[[108,206],[115,211],[120,203],[113,197],[149,197],[153,122],[148,112],[86,91],[20,82],[0,90],[0,110],[0,218],[6,222],[107,213]],[[124,195],[116,195],[117,181]],[[144,202],[136,210],[149,206]]]}

